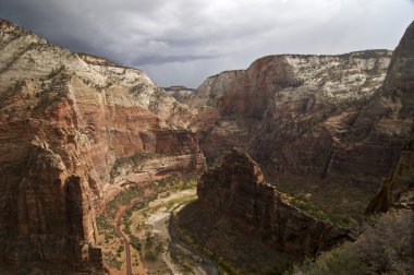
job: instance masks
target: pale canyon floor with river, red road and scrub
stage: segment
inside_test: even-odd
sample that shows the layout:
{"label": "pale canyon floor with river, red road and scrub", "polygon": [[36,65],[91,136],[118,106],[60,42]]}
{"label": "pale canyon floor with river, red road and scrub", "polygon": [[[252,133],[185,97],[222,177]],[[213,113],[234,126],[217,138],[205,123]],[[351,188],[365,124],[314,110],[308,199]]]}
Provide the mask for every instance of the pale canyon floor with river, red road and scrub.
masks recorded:
{"label": "pale canyon floor with river, red road and scrub", "polygon": [[132,274],[218,274],[209,258],[183,242],[174,227],[174,214],[196,200],[195,189],[193,177],[170,177],[131,187],[109,202],[97,218],[109,273],[130,274],[130,251]]}

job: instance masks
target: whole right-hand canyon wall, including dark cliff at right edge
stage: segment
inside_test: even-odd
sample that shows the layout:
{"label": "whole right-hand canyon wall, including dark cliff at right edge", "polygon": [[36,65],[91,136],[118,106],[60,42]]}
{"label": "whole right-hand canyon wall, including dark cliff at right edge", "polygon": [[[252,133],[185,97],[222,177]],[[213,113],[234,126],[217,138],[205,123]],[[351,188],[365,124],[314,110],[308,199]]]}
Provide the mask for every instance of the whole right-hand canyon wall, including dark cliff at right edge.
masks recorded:
{"label": "whole right-hand canyon wall, including dark cliff at right edge", "polygon": [[187,101],[207,160],[236,146],[272,176],[376,192],[413,128],[413,33],[392,57],[269,56],[211,76]]}

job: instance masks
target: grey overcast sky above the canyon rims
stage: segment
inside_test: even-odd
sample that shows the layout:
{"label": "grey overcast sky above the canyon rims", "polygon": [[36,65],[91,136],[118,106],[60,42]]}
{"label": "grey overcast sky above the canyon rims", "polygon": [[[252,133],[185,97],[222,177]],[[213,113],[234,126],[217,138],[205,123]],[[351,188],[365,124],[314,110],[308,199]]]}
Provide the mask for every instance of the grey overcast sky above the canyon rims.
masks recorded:
{"label": "grey overcast sky above the canyon rims", "polygon": [[394,49],[414,0],[0,0],[0,17],[196,88],[268,55]]}

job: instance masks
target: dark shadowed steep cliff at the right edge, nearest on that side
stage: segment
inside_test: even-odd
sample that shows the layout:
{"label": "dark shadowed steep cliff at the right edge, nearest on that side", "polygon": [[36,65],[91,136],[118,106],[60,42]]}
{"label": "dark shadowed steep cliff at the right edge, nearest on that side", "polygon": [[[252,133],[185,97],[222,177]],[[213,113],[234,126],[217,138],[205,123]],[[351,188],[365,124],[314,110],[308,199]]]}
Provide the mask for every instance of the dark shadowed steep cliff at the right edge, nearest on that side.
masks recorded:
{"label": "dark shadowed steep cliff at the right edge, nearest on that side", "polygon": [[413,49],[414,22],[392,55],[382,86],[336,146],[329,174],[354,175],[379,183],[397,165],[414,129]]}

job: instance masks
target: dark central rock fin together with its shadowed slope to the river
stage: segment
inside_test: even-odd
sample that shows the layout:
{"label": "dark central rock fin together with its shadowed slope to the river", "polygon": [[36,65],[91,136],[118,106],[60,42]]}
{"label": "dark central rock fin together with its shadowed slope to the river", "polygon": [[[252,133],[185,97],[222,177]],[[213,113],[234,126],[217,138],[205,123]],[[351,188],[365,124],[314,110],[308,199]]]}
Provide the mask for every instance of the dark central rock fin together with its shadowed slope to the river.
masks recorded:
{"label": "dark central rock fin together with its shadowed slope to the river", "polygon": [[[280,254],[273,251],[269,258],[279,255],[281,260],[283,255],[293,259],[310,256],[350,239],[345,229],[295,207],[288,195],[265,182],[260,168],[246,153],[236,150],[223,157],[220,167],[209,169],[202,176],[197,184],[197,196],[198,201],[195,204],[186,206],[186,210],[180,213],[180,224],[194,235],[195,240],[220,256],[233,259],[233,264],[244,268],[256,265],[252,262],[264,258],[259,255],[261,251],[256,251],[256,254],[251,251],[247,253],[248,256],[238,255],[245,252],[232,250],[227,246],[239,247],[244,239],[259,236],[255,247],[264,247],[266,250],[268,246],[281,252]],[[218,213],[219,217],[211,217],[210,213]],[[230,220],[230,232],[220,226],[223,224],[220,222],[222,217]],[[197,225],[205,228],[199,229]],[[244,237],[235,243],[228,243],[228,239],[232,238],[235,231],[243,232]],[[200,236],[203,232],[205,236]],[[229,250],[232,252],[227,252]],[[236,259],[241,256],[244,260],[238,262]],[[278,263],[271,263],[270,259],[267,265],[255,266],[253,271],[261,274]]]}

